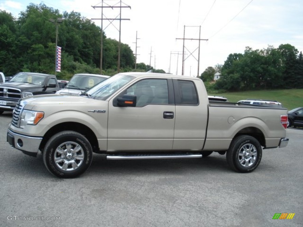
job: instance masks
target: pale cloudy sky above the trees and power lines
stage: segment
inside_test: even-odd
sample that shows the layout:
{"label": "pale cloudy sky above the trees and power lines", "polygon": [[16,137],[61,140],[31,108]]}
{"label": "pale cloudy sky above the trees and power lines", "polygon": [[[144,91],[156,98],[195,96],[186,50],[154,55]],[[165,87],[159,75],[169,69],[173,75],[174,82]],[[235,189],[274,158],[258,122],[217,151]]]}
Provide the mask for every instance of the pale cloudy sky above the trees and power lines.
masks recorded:
{"label": "pale cloudy sky above the trees and power lines", "polygon": [[[16,18],[29,3],[44,3],[60,12],[80,12],[92,19],[101,18],[102,0],[0,0],[0,9]],[[119,0],[104,0],[104,5],[119,5]],[[252,49],[278,48],[291,44],[303,51],[303,2],[301,0],[122,0],[121,41],[134,54],[137,32],[137,63],[151,64],[172,74],[197,76],[209,66],[224,64],[229,54]],[[119,18],[119,8],[104,8],[103,17]],[[101,27],[101,20],[93,20]],[[115,26],[114,26],[115,25]],[[199,33],[201,26],[201,33]],[[119,40],[119,21],[103,21],[105,35]],[[200,59],[198,67],[198,40]],[[181,38],[181,39],[176,39]],[[179,53],[179,54],[178,54]],[[199,71],[199,73],[198,73]]]}

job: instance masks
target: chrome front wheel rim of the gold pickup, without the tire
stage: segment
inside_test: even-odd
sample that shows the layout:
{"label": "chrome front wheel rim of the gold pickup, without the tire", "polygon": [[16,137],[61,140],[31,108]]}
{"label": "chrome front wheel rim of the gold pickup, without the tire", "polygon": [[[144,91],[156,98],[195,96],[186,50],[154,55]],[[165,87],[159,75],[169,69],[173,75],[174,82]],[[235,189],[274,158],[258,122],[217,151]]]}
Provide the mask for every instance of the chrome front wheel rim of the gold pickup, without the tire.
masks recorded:
{"label": "chrome front wheel rim of the gold pickup, without the tire", "polygon": [[60,144],[54,152],[54,160],[58,168],[65,171],[77,169],[83,163],[84,151],[73,141]]}

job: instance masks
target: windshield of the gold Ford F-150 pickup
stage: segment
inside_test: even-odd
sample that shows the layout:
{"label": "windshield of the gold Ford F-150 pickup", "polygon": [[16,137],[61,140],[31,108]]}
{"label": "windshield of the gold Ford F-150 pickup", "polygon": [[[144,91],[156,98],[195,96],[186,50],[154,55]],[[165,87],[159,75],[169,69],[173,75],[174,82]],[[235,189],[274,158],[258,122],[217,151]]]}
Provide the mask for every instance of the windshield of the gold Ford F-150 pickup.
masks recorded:
{"label": "windshield of the gold Ford F-150 pickup", "polygon": [[109,96],[114,94],[117,90],[133,79],[135,79],[133,76],[117,74],[87,90],[85,94],[94,99],[106,100]]}

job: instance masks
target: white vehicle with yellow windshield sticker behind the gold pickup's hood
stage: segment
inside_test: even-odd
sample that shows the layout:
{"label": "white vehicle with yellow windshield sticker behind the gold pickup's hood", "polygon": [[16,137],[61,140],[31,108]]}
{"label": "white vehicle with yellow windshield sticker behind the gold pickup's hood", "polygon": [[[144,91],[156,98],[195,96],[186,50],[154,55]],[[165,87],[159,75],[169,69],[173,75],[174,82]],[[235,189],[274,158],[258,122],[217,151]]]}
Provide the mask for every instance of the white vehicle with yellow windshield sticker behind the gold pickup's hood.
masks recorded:
{"label": "white vehicle with yellow windshield sticker behind the gold pickup's hood", "polygon": [[109,76],[99,74],[75,74],[64,89],[56,94],[82,94],[88,88],[106,80]]}

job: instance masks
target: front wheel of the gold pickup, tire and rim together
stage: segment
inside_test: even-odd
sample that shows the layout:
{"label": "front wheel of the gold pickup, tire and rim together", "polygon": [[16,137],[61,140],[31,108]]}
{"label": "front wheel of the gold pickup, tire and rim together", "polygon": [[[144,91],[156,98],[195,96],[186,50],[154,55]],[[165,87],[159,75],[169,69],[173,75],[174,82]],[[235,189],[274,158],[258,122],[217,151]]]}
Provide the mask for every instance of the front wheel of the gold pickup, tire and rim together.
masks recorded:
{"label": "front wheel of the gold pickup, tire and rim together", "polygon": [[46,143],[43,150],[43,162],[53,175],[74,178],[84,173],[91,165],[92,146],[80,133],[59,132]]}

